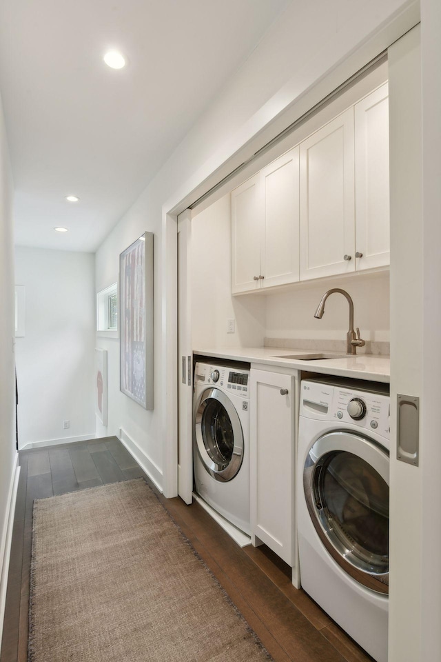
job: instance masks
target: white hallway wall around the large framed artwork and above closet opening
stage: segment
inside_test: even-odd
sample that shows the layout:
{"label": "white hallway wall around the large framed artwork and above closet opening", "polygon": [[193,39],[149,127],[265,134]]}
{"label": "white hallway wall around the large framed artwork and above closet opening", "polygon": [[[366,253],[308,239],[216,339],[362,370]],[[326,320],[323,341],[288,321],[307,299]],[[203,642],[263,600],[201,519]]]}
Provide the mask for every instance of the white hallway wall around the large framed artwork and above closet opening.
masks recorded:
{"label": "white hallway wall around the large framed artwork and above closet opening", "polygon": [[[393,21],[409,6],[410,19],[406,15],[402,23]],[[295,106],[297,112],[304,98],[310,106],[309,88],[325,74],[341,65],[335,77],[326,79],[326,86],[336,86],[409,29],[415,17],[418,20],[417,3],[402,0],[315,0],[301,6],[291,2],[96,253],[100,290],[115,280],[119,252],[145,230],[154,232],[155,408],[145,412],[120,396],[118,381],[109,383],[109,401],[115,403],[109,431],[112,426],[124,428],[145,457],[160,470],[165,468],[166,496],[176,494],[177,485],[177,341],[173,295],[169,296],[176,291],[176,228],[167,222],[167,212],[175,206],[183,210],[183,200],[193,202],[196,191],[218,179],[228,159],[230,168],[234,155],[256,134],[265,142],[266,128],[274,132],[283,110]],[[346,58],[356,50],[355,60],[346,67]],[[237,158],[241,162],[243,154]],[[105,341],[97,340],[97,345],[104,347]]]}

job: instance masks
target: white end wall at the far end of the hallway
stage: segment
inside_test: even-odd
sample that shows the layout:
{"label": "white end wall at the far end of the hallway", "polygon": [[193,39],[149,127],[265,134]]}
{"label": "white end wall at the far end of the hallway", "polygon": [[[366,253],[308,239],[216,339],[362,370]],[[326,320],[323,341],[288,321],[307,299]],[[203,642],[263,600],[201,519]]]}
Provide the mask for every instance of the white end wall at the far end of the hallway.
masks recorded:
{"label": "white end wall at the far end of the hallway", "polygon": [[20,448],[95,435],[94,277],[92,253],[16,249],[26,300],[25,337],[17,338]]}

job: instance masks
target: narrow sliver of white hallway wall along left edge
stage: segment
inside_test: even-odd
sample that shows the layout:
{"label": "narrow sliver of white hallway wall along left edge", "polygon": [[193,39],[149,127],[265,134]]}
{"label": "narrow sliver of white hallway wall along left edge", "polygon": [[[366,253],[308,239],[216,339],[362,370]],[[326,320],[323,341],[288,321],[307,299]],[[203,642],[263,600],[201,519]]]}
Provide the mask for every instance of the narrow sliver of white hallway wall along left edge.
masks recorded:
{"label": "narrow sliver of white hallway wall along left edge", "polygon": [[[14,479],[15,373],[14,373],[14,240],[12,173],[8,139],[0,99],[0,643],[6,598],[5,561],[8,514]],[[5,561],[3,563],[3,561]]]}

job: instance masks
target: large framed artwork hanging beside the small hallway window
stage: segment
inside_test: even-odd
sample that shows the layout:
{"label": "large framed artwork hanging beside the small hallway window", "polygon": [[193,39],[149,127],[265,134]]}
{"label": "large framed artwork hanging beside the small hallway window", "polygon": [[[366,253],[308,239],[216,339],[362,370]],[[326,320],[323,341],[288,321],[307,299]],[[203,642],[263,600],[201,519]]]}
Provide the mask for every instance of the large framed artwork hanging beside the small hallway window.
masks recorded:
{"label": "large framed artwork hanging beside the small hallway window", "polygon": [[120,389],[153,409],[153,234],[145,232],[119,258]]}

